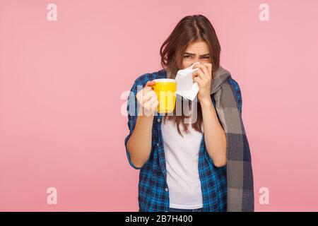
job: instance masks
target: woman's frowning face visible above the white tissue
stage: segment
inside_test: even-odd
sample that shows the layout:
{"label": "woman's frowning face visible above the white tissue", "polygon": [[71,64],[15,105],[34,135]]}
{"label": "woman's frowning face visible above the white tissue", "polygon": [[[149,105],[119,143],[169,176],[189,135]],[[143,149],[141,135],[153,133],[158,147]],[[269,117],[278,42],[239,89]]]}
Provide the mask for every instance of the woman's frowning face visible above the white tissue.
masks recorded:
{"label": "woman's frowning face visible above the white tissue", "polygon": [[182,69],[186,69],[196,62],[211,63],[211,53],[208,44],[204,41],[196,41],[189,44],[183,55]]}

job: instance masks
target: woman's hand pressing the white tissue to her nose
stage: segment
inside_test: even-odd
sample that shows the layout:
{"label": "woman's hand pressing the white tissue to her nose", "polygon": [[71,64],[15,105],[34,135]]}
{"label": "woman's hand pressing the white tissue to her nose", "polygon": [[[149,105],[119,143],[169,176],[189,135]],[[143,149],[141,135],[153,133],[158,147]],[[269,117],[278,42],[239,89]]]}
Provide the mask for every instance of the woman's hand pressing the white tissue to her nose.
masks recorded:
{"label": "woman's hand pressing the white tissue to her nose", "polygon": [[193,66],[193,69],[200,69],[193,73],[192,78],[199,85],[198,100],[201,104],[211,104],[211,80],[212,80],[212,64],[201,63]]}

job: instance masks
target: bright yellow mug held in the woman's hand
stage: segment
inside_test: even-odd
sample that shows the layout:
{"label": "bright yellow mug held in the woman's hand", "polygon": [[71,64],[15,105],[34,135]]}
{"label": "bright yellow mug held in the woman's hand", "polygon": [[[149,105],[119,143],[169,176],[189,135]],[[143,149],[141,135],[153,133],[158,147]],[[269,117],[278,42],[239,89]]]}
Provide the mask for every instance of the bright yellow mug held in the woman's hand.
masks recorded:
{"label": "bright yellow mug held in the woman's hand", "polygon": [[171,78],[159,78],[153,80],[155,85],[153,85],[153,90],[157,94],[159,105],[157,107],[157,112],[160,113],[170,113],[175,109],[175,98],[177,91],[177,83],[175,79]]}

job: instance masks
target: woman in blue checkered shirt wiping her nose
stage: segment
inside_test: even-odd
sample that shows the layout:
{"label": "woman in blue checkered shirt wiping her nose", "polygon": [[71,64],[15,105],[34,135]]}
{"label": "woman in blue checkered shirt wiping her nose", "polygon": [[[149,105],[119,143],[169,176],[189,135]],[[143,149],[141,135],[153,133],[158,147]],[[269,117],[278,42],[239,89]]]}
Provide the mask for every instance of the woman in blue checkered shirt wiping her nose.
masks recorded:
{"label": "woman in blue checkered shirt wiping her nose", "polygon": [[[160,55],[164,69],[139,76],[127,105],[130,133],[125,139],[126,155],[131,167],[141,169],[139,211],[226,211],[229,184],[233,184],[231,197],[236,197],[231,209],[252,210],[252,203],[240,208],[243,199],[254,198],[245,192],[246,187],[234,189],[237,179],[227,184],[227,151],[232,147],[228,147],[227,141],[233,143],[233,139],[229,140],[230,133],[225,133],[223,127],[228,125],[229,129],[236,122],[228,117],[227,124],[220,123],[220,117],[226,114],[218,115],[214,96],[220,95],[211,94],[211,85],[217,83],[215,78],[228,71],[220,67],[220,44],[210,21],[201,15],[182,18],[160,48]],[[196,62],[200,63],[194,65],[199,70],[193,74],[193,81],[199,85],[196,107],[177,97],[177,102],[187,105],[188,111],[182,108],[182,115],[156,114],[158,97],[152,88],[153,80],[175,78],[179,69]],[[241,114],[239,85],[231,76],[223,83],[235,96],[231,109]],[[227,105],[230,94],[220,97],[223,105]],[[185,123],[184,119],[192,119],[194,110],[196,120]],[[231,168],[231,172],[237,168]]]}

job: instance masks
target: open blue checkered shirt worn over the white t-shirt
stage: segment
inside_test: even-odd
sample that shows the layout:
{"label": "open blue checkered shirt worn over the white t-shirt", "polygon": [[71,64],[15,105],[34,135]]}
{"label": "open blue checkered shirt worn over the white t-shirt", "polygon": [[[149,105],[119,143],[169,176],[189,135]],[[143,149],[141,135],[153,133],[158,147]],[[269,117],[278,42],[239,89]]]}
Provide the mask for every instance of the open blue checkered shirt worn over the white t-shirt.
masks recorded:
{"label": "open blue checkered shirt worn over the white t-shirt", "polygon": [[[161,121],[163,115],[155,115],[152,129],[151,154],[147,162],[142,167],[136,167],[132,162],[127,150],[127,141],[134,131],[137,119],[136,93],[146,85],[147,81],[157,78],[167,78],[166,71],[160,70],[154,73],[145,73],[136,79],[131,88],[131,93],[127,102],[129,134],[125,138],[126,155],[129,164],[139,172],[139,212],[167,212],[169,204],[169,188],[167,185],[167,169],[165,167],[165,151],[163,148],[163,135],[161,133]],[[242,112],[242,95],[240,87],[233,78],[228,78],[232,89],[237,96],[237,105]],[[138,89],[137,89],[138,86]],[[215,106],[213,95],[211,100]],[[199,178],[201,181],[201,191],[204,212],[226,211],[226,165],[216,167],[213,160],[208,155],[204,136],[199,150]]]}

